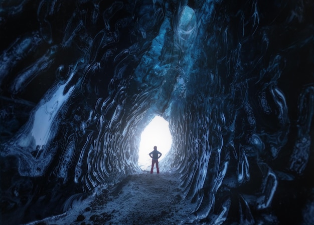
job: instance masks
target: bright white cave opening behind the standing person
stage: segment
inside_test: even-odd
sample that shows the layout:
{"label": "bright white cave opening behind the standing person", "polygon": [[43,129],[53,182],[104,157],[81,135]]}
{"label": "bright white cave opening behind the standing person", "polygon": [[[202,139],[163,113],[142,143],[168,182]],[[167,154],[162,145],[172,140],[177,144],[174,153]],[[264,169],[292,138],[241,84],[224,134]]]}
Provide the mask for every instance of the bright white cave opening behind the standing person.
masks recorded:
{"label": "bright white cave opening behind the standing person", "polygon": [[157,146],[157,150],[163,154],[159,159],[161,161],[170,150],[171,144],[172,136],[169,130],[169,122],[161,116],[155,116],[140,136],[138,151],[139,167],[143,170],[150,169],[151,158],[148,154],[153,150],[153,146]]}

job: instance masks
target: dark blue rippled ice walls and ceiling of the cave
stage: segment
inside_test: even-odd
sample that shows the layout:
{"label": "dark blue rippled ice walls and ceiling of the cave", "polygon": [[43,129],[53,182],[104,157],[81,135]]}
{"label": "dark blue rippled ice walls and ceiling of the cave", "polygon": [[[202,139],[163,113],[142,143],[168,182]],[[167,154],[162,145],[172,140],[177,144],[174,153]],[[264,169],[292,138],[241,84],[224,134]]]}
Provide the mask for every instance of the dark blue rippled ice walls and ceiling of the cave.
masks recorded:
{"label": "dark blue rippled ice walls and ceiling of the cave", "polygon": [[141,172],[140,134],[156,115],[173,137],[161,166],[178,173],[199,219],[310,217],[310,0],[0,6],[8,224],[61,213],[97,185]]}

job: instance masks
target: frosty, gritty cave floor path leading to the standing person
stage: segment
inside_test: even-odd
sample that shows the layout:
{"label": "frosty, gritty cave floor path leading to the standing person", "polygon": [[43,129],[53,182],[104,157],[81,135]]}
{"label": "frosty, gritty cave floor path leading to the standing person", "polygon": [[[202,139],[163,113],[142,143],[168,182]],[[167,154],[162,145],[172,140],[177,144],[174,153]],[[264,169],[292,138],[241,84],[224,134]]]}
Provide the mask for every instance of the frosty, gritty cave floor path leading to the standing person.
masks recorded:
{"label": "frosty, gritty cave floor path leading to the standing person", "polygon": [[144,171],[75,202],[61,215],[28,224],[191,224],[194,206],[182,199],[177,173]]}

